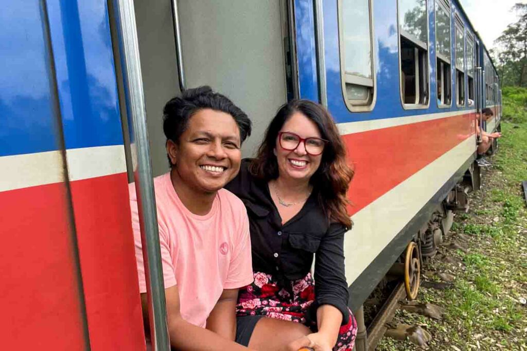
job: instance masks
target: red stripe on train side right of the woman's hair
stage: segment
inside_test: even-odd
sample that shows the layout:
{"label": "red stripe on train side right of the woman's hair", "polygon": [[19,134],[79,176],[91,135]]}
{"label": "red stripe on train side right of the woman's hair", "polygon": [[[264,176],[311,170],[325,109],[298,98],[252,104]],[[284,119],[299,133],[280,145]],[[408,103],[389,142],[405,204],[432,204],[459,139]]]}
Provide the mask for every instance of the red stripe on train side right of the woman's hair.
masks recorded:
{"label": "red stripe on train side right of the woman's hair", "polygon": [[348,160],[355,169],[349,213],[357,213],[473,136],[474,118],[475,114],[464,114],[344,135]]}

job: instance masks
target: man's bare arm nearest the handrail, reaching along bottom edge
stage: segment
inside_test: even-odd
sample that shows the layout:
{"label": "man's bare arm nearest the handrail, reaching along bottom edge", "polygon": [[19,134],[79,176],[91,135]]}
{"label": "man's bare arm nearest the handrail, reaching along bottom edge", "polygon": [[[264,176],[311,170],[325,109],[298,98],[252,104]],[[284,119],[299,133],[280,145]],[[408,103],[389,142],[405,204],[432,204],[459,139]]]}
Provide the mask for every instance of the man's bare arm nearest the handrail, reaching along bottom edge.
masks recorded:
{"label": "man's bare arm nearest the handrail, reaching along bottom edge", "polygon": [[[179,350],[247,350],[233,340],[193,325],[183,319],[179,309],[178,286],[165,289],[167,299],[167,321],[170,345]],[[147,294],[141,294],[143,315],[148,314]]]}

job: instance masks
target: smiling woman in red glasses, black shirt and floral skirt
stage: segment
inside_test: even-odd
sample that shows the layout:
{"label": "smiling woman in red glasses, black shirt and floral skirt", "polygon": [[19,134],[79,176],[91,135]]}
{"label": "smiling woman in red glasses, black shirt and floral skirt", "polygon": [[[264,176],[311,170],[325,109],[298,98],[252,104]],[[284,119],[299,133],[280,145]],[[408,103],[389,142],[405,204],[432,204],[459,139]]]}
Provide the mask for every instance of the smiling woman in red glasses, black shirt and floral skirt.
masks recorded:
{"label": "smiling woman in red glasses, black shirt and floral skirt", "polygon": [[[236,340],[261,350],[351,350],[344,236],[353,172],[326,109],[279,108],[255,159],[227,185],[247,207],[254,282],[240,289]],[[310,273],[315,255],[313,279]]]}

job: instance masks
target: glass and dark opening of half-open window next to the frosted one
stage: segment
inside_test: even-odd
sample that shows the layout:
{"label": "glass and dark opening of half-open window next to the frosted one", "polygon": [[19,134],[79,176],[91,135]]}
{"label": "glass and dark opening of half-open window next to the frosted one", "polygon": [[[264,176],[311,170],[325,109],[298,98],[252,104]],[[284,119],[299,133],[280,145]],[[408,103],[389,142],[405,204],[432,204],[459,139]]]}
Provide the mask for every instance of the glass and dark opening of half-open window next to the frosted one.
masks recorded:
{"label": "glass and dark opening of half-open window next to the frosted one", "polygon": [[426,0],[399,0],[401,97],[409,105],[428,104],[428,25]]}

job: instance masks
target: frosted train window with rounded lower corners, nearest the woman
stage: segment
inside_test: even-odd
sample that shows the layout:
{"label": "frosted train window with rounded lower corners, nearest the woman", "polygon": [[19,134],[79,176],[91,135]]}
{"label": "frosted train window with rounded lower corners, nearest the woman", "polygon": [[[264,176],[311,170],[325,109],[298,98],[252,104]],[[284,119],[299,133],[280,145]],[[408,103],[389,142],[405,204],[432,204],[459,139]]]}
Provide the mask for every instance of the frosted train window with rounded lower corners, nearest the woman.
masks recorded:
{"label": "frosted train window with rounded lower corners, nearest the woman", "polygon": [[375,103],[371,0],[339,2],[342,87],[350,111],[370,111]]}

